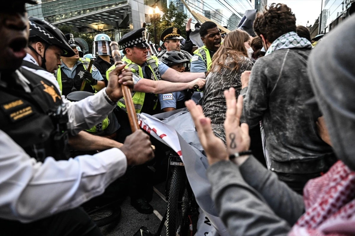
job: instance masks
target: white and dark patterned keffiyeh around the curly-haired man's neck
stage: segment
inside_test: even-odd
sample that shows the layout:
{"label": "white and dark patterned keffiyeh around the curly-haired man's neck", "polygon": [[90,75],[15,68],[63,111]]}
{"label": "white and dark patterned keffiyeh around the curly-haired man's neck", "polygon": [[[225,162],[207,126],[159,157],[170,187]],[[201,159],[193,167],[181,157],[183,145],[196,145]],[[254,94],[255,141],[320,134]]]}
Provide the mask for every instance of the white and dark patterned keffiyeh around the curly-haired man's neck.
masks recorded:
{"label": "white and dark patterned keffiyeh around the curly-haired man's neck", "polygon": [[296,32],[291,31],[273,41],[266,51],[265,56],[276,50],[286,48],[312,48],[312,44],[306,38],[301,38]]}

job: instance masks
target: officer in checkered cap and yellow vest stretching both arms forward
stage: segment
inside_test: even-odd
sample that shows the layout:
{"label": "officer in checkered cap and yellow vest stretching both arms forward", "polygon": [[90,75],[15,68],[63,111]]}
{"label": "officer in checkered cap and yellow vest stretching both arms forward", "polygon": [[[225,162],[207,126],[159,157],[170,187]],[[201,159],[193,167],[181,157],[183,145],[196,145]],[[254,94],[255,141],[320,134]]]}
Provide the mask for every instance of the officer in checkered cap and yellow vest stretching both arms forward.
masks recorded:
{"label": "officer in checkered cap and yellow vest stretching both arms forward", "polygon": [[[131,69],[133,73],[138,75],[134,81],[135,93],[132,94],[136,112],[153,115],[160,110],[159,108],[156,109],[158,107],[156,94],[192,89],[195,85],[203,87],[204,79],[200,78],[204,78],[205,75],[204,73],[181,73],[159,62],[157,57],[147,55],[149,45],[144,38],[144,30],[144,28],[141,28],[125,34],[119,40],[119,45],[124,49],[125,57],[122,58],[122,61],[126,63],[126,68]],[[114,65],[109,68],[107,74],[114,68]],[[120,99],[118,106],[126,112],[124,99]],[[124,125],[122,125],[119,117],[118,119],[123,127]]]}

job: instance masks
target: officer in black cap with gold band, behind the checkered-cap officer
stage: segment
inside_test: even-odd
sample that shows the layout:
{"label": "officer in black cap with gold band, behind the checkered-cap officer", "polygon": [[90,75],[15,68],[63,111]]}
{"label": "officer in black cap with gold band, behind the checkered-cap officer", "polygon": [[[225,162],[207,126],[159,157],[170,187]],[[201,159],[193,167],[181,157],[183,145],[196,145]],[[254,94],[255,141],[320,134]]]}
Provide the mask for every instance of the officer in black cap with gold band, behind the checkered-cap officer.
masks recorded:
{"label": "officer in black cap with gold band, behind the checkered-cap officer", "polygon": [[[181,47],[180,34],[181,34],[181,30],[176,27],[170,27],[163,31],[163,33],[160,35],[160,40],[163,42],[166,50],[163,50],[162,52],[159,53],[158,55],[159,61],[162,61],[163,55],[166,52],[170,52],[170,51],[182,52],[186,59],[188,60],[191,59],[191,54],[189,52],[181,50],[180,48]],[[190,71],[190,63],[188,63],[188,67],[185,68],[185,71]]]}

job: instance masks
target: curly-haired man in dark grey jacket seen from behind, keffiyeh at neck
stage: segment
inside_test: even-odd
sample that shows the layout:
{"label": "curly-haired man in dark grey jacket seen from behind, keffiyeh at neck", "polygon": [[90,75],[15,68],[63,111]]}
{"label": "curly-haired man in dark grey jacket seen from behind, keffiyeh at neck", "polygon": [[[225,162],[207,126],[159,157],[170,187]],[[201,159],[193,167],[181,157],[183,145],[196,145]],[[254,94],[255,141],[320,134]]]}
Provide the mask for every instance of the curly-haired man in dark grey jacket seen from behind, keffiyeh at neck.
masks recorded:
{"label": "curly-haired man in dark grey jacket seen from behind, keffiyeh at neck", "polygon": [[267,52],[251,73],[241,75],[241,94],[247,91],[244,121],[250,128],[262,122],[267,167],[301,194],[308,179],[336,161],[331,146],[317,135],[319,109],[305,105],[314,96],[306,73],[311,42],[296,34],[295,15],[284,4],[271,4],[258,14],[254,30]]}

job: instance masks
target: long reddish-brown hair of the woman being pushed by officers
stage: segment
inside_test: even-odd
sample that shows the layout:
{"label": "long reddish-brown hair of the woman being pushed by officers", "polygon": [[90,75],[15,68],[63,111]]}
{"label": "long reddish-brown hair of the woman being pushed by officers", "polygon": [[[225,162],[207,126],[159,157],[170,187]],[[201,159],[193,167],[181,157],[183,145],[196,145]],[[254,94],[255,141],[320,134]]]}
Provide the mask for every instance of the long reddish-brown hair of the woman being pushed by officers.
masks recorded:
{"label": "long reddish-brown hair of the woman being pushed by officers", "polygon": [[[222,68],[230,70],[237,70],[239,68],[238,62],[248,57],[247,50],[244,42],[250,40],[250,35],[243,30],[236,29],[230,31],[223,40],[223,44],[218,48],[217,52],[213,55],[211,69],[209,71],[219,71]],[[232,59],[233,63],[226,65],[229,62],[227,58]]]}

